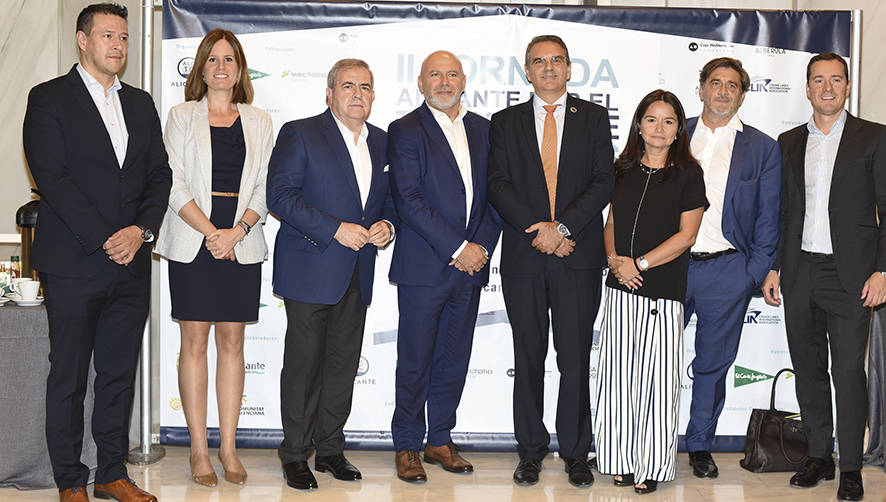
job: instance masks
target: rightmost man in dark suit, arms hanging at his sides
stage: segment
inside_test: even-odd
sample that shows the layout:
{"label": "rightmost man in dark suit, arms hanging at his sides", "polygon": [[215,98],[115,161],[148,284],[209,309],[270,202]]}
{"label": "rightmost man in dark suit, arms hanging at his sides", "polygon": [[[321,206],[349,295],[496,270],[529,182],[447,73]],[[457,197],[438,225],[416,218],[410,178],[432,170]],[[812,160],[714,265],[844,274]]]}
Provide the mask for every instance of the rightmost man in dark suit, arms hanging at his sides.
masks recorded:
{"label": "rightmost man in dark suit, arms hanging at his sides", "polygon": [[844,110],[849,89],[842,57],[810,59],[806,96],[812,118],[778,137],[781,238],[763,295],[778,305],[779,286],[784,293],[797,401],[809,440],[809,460],[791,485],[834,479],[830,346],[840,444],[837,498],[860,500],[865,348],[871,308],[886,300],[886,127]]}

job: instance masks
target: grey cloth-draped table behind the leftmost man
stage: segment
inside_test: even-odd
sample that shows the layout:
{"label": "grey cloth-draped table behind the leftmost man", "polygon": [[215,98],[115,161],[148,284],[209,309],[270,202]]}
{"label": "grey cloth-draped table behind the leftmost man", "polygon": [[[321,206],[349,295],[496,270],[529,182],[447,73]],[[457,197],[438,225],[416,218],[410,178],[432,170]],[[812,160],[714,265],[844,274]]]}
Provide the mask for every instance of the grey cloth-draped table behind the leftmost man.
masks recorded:
{"label": "grey cloth-draped table behind the leftmost man", "polygon": [[[46,449],[46,376],[49,373],[49,325],[46,308],[0,306],[0,488],[37,489],[55,486]],[[81,462],[95,475],[92,439],[90,365],[83,423]],[[0,490],[0,499],[4,497]]]}

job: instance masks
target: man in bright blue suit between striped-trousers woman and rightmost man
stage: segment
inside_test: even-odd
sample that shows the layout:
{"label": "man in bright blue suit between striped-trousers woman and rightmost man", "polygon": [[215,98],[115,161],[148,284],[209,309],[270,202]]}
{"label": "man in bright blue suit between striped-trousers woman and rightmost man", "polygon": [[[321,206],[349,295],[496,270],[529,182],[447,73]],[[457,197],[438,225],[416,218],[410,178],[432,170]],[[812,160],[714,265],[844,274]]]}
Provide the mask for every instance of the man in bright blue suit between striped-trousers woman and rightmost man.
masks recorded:
{"label": "man in bright blue suit between striped-trousers woman and rightmost man", "polygon": [[699,75],[701,117],[687,121],[711,207],[690,249],[685,321],[693,313],[695,359],[686,447],[692,472],[719,474],[711,456],[748,303],[775,262],[781,157],[778,144],[738,119],[750,88],[741,61],[717,58]]}

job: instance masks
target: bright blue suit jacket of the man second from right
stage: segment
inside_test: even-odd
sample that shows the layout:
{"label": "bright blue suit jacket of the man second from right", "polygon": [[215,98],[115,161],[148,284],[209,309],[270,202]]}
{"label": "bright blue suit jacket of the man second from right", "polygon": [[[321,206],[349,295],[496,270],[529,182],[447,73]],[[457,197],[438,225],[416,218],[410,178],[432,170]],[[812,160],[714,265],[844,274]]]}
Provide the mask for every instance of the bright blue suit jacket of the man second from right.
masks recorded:
{"label": "bright blue suit jacket of the man second from right", "polygon": [[[698,117],[686,121],[690,137],[697,124]],[[775,263],[778,246],[781,150],[765,133],[742,126],[732,146],[721,224],[723,237],[747,260],[749,287],[757,288]]]}

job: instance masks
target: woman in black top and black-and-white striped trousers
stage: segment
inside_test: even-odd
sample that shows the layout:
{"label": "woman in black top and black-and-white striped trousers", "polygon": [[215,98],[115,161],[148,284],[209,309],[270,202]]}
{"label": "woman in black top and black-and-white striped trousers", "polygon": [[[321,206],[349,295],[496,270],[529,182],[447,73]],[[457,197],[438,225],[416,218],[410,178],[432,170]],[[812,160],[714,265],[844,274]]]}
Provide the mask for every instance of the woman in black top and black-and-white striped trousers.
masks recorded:
{"label": "woman in black top and black-and-white striped trousers", "polygon": [[597,465],[637,493],[674,479],[689,247],[708,206],[672,93],[637,106],[603,231],[609,274],[597,366]]}

